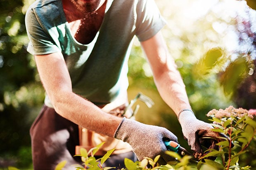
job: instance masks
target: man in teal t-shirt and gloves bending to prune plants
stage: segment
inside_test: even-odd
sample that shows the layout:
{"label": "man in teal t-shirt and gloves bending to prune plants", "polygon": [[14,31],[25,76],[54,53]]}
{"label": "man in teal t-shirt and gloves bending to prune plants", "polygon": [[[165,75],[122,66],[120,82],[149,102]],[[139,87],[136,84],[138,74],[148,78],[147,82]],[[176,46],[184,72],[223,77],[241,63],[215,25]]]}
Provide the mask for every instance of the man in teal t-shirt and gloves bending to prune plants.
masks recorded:
{"label": "man in teal t-shirt and gloves bending to prune plants", "polygon": [[91,147],[105,141],[103,150],[116,148],[112,166],[119,168],[124,157],[135,155],[141,161],[160,154],[160,164],[168,161],[163,141],[177,142],[173,133],[109,114],[127,105],[127,62],[134,36],[183,135],[192,150],[201,151],[195,133],[212,127],[191,110],[160,32],[164,25],[154,0],[37,0],[31,5],[26,13],[28,51],[47,94],[31,127],[35,170],[54,169],[63,160],[68,161],[66,169],[79,163],[73,157],[78,125],[90,132]]}

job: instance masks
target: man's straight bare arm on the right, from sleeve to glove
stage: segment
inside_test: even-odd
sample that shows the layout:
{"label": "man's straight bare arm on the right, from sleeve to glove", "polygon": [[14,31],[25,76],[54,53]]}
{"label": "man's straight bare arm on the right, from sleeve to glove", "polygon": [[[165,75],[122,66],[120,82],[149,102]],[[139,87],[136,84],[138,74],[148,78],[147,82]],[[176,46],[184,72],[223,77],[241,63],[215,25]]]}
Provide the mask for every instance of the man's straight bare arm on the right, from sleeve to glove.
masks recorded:
{"label": "man's straight bare arm on the right, from sleeve to glove", "polygon": [[[177,115],[182,109],[191,109],[183,79],[168,52],[161,32],[141,42],[152,68],[156,87],[169,107]],[[178,116],[178,115],[177,115]]]}

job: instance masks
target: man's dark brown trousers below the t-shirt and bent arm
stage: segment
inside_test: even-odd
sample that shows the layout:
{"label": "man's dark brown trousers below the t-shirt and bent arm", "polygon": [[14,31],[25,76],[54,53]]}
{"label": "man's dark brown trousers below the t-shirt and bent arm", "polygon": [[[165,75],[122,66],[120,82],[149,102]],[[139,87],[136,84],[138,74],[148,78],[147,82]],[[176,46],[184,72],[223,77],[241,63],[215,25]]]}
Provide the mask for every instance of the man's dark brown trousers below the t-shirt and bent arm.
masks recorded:
{"label": "man's dark brown trousers below the t-shirt and bent arm", "polygon": [[[60,116],[54,109],[43,105],[31,126],[30,135],[34,170],[54,170],[64,160],[67,163],[63,170],[82,165],[81,157],[74,156],[75,147],[79,145],[78,125]],[[133,152],[128,152],[111,156],[103,166],[124,168],[124,158],[137,160]]]}

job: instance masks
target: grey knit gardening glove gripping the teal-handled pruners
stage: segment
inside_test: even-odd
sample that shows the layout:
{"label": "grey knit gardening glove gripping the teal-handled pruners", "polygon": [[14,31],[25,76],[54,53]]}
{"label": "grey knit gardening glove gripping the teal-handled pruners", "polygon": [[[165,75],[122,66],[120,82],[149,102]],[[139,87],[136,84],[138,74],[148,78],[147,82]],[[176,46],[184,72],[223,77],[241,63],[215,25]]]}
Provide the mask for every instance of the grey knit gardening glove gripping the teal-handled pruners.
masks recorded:
{"label": "grey knit gardening glove gripping the teal-handled pruners", "polygon": [[144,157],[154,159],[161,155],[158,161],[160,165],[166,165],[168,161],[173,160],[171,156],[164,154],[167,151],[164,141],[178,142],[177,137],[166,128],[146,125],[126,118],[122,119],[114,137],[128,142],[139,161],[142,161]]}

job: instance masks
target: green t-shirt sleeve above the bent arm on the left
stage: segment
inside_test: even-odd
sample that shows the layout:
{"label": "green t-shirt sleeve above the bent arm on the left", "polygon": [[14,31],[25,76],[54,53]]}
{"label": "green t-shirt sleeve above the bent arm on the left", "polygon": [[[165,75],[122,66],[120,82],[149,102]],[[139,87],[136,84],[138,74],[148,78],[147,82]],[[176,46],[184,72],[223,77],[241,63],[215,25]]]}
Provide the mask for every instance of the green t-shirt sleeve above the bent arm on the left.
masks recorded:
{"label": "green t-shirt sleeve above the bent arm on the left", "polygon": [[25,16],[26,31],[29,39],[27,51],[32,55],[51,54],[61,51],[38,22],[33,9],[29,9]]}

